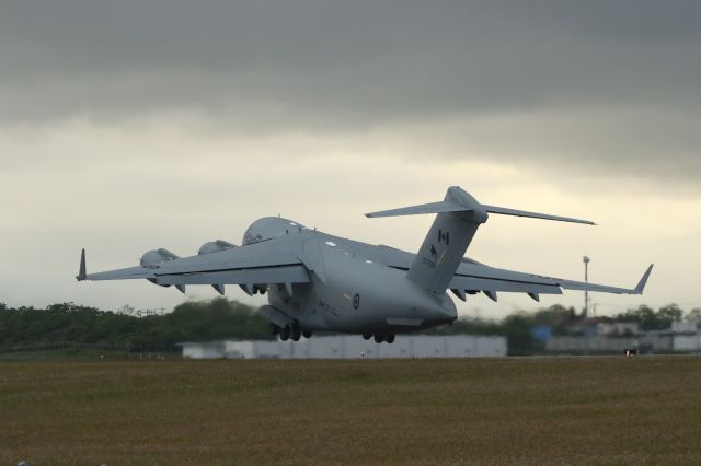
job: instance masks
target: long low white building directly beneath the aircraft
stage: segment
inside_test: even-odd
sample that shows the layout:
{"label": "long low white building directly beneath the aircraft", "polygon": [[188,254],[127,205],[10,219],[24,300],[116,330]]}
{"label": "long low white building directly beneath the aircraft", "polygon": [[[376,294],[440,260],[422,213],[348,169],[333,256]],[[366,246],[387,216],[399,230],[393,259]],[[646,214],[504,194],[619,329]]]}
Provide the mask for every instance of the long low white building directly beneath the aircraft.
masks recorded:
{"label": "long low white building directly beneath the aircraft", "polygon": [[506,338],[470,335],[398,336],[394,343],[376,343],[360,336],[329,336],[301,341],[214,341],[183,343],[186,359],[378,359],[503,358]]}

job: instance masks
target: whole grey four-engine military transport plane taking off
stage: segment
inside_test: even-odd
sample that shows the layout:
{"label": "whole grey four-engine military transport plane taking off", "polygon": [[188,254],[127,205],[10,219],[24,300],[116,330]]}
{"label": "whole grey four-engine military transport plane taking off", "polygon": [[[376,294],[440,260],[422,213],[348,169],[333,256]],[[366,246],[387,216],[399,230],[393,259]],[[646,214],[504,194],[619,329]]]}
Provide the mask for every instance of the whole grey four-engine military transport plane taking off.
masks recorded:
{"label": "whole grey four-engine military transport plane taking off", "polygon": [[241,246],[219,240],[204,244],[196,256],[183,258],[162,248],[149,251],[138,267],[87,273],[83,249],[77,279],[146,279],[183,293],[187,284],[210,284],[220,294],[225,286],[238,284],[250,295],[268,294],[268,304],[258,312],[281,340],[298,341],[313,331],[341,331],[391,343],[395,334],[452,323],[458,315],[447,290],[463,301],[479,292],[493,301],[498,292],[527,293],[539,301],[541,294],[562,294],[562,289],[642,294],[653,267],[634,289],[624,289],[503,270],[464,258],[490,213],[594,223],[484,206],[460,187],[449,188],[440,202],[367,217],[422,213],[437,215],[418,254],[268,217],[251,224]]}

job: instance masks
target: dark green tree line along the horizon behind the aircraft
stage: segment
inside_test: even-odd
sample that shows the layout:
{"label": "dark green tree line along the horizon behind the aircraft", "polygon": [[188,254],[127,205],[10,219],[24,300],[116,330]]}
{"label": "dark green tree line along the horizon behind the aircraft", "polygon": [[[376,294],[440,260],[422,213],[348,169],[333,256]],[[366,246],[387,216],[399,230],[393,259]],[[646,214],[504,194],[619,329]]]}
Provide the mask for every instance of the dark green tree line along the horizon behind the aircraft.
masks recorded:
{"label": "dark green tree line along the horizon behind the aircraft", "polygon": [[[137,317],[129,308],[126,310],[101,311],[74,303],[51,304],[46,308],[11,308],[0,303],[0,347],[46,341],[174,345],[184,341],[273,338],[267,321],[257,315],[253,307],[226,298],[187,301],[163,315]],[[507,337],[509,351],[528,352],[536,346],[531,328],[548,326],[553,335],[566,335],[570,326],[583,317],[583,313],[574,307],[555,304],[536,312],[516,312],[498,321],[462,317],[451,326],[424,333],[501,335]],[[663,330],[685,317],[701,318],[701,308],[685,315],[676,304],[656,311],[641,305],[601,319],[635,322],[642,330]]]}

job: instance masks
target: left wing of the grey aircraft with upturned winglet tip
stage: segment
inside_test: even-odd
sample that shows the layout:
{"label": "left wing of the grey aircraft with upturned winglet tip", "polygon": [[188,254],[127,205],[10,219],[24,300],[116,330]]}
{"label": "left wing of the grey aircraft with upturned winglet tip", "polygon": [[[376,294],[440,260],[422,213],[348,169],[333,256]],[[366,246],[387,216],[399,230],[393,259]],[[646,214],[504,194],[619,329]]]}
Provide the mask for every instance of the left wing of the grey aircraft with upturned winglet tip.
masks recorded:
{"label": "left wing of the grey aircraft with upturned winglet tip", "polygon": [[147,279],[161,286],[242,284],[249,289],[255,284],[307,283],[310,281],[309,272],[299,258],[299,245],[290,240],[276,238],[150,266],[97,273],[87,272],[83,251],[80,272],[76,278],[79,281]]}

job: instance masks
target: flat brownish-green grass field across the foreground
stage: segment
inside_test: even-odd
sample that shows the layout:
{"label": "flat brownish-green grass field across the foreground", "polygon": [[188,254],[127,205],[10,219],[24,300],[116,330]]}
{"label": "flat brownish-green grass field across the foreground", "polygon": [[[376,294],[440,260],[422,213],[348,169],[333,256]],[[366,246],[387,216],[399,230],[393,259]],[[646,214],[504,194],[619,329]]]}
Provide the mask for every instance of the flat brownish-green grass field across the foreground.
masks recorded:
{"label": "flat brownish-green grass field across the foreground", "polygon": [[701,464],[701,358],[2,361],[21,459]]}

